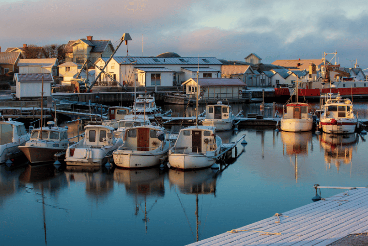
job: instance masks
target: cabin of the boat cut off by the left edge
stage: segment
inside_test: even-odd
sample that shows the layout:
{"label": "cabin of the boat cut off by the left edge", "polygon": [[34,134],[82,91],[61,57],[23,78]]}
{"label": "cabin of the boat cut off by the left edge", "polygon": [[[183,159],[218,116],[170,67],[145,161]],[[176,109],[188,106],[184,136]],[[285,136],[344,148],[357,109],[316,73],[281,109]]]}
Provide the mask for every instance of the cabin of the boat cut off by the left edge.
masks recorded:
{"label": "cabin of the boat cut off by the left edge", "polygon": [[27,136],[23,123],[18,121],[0,121],[0,145],[18,141],[22,136]]}

